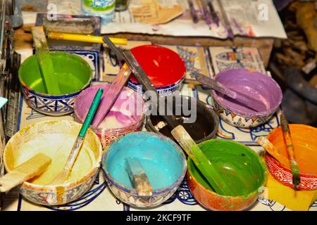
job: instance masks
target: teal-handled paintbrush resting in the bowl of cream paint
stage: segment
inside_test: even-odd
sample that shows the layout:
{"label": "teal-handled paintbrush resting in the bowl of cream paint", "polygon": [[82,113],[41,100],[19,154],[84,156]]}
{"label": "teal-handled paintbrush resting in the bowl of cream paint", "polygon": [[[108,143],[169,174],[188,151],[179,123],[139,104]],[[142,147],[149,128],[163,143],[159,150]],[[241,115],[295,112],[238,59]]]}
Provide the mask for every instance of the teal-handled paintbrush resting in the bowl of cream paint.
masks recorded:
{"label": "teal-handled paintbrush resting in the bowl of cream paint", "polygon": [[49,185],[63,184],[63,181],[68,179],[68,176],[73,169],[77,156],[80,153],[80,149],[82,148],[82,144],[84,143],[87,130],[89,128],[90,123],[92,122],[94,114],[96,113],[103,93],[104,89],[98,89],[96,95],[94,96],[94,101],[92,101],[92,105],[90,105],[85,121],[82,124],[82,128],[80,129],[77,139],[75,140],[73,148],[70,150],[63,171],[57,174],[57,176],[54,177],[54,179],[49,183]]}

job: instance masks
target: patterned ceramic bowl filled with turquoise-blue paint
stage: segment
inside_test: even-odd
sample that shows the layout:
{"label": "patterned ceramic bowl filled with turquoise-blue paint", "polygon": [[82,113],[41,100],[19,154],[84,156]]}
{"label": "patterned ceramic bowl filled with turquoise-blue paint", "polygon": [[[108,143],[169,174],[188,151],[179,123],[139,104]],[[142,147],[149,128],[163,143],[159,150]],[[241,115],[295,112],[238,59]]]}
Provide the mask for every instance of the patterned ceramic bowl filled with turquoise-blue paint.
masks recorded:
{"label": "patterned ceramic bowl filled with turquoise-blue paint", "polygon": [[[137,158],[153,188],[151,197],[139,197],[125,170],[125,158]],[[135,132],[113,141],[102,159],[108,187],[116,198],[134,207],[164,203],[184,179],[187,164],[182,149],[161,134]]]}

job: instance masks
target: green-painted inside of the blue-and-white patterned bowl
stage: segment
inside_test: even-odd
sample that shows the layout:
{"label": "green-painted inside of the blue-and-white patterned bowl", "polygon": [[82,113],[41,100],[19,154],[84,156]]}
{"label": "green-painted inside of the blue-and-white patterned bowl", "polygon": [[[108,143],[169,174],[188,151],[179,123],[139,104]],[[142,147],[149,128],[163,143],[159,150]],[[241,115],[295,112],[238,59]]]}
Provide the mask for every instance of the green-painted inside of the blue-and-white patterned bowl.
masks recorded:
{"label": "green-painted inside of the blue-and-white patterned bowl", "polygon": [[[92,68],[83,58],[62,51],[52,51],[50,55],[62,95],[76,93],[89,85],[92,80]],[[40,94],[49,94],[45,93],[36,55],[30,56],[22,63],[19,79],[29,89]]]}

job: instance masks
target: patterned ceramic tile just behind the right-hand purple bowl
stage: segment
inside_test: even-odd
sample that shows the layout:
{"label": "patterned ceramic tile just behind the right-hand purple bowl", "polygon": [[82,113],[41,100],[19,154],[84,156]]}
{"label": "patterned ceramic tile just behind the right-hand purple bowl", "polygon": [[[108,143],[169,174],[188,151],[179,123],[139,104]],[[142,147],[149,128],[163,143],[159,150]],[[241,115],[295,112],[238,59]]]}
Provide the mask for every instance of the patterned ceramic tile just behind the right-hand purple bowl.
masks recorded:
{"label": "patterned ceramic tile just behind the right-hand purple bowl", "polygon": [[209,53],[215,75],[230,68],[249,68],[266,73],[263,60],[256,48],[211,46]]}

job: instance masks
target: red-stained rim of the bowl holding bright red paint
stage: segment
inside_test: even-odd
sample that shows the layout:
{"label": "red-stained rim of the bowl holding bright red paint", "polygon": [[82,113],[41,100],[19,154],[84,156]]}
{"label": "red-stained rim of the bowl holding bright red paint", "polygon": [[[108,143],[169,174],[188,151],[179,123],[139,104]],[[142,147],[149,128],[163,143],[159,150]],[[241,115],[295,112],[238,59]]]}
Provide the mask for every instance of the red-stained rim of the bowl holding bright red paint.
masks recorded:
{"label": "red-stained rim of the bowl holding bright red paint", "polygon": [[[177,58],[180,60],[180,62],[182,62],[182,70],[184,70],[184,72],[183,72],[182,76],[180,76],[180,79],[178,81],[176,81],[176,82],[173,82],[173,83],[170,83],[170,84],[167,84],[167,85],[162,85],[162,84],[161,85],[156,85],[155,86],[156,89],[166,89],[168,87],[174,86],[175,84],[178,84],[178,83],[182,82],[185,79],[186,71],[187,71],[186,63],[185,63],[185,61],[182,59],[182,57],[178,53],[176,53],[175,51],[173,51],[171,49],[168,49],[166,46],[159,46],[159,45],[156,45],[156,44],[144,44],[144,45],[141,45],[141,46],[135,46],[132,49],[130,49],[130,51],[133,51],[134,49],[142,49],[142,48],[154,48],[154,49],[163,49],[165,51],[169,51],[174,56],[177,56]],[[131,82],[132,84],[141,86],[141,84],[139,84],[139,82],[133,82],[131,77],[130,77],[130,79],[128,79],[128,82]]]}

